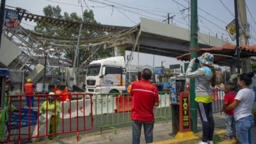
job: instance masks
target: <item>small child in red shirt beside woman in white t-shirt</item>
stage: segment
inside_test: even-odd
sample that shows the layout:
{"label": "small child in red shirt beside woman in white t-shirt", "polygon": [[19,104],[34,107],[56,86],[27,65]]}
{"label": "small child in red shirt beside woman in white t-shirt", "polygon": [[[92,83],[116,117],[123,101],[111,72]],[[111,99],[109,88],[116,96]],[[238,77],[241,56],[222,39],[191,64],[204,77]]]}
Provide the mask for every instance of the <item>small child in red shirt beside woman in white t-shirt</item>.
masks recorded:
{"label": "small child in red shirt beside woman in white t-shirt", "polygon": [[[225,96],[224,96],[224,103],[221,111],[224,111],[223,109],[226,109],[228,105],[232,104],[234,102],[234,99],[236,97],[236,92],[234,92],[234,84],[228,83],[225,86]],[[235,126],[235,120],[234,120],[234,109],[225,111],[226,114],[226,134],[223,136],[223,140],[230,140],[236,136],[236,126]]]}

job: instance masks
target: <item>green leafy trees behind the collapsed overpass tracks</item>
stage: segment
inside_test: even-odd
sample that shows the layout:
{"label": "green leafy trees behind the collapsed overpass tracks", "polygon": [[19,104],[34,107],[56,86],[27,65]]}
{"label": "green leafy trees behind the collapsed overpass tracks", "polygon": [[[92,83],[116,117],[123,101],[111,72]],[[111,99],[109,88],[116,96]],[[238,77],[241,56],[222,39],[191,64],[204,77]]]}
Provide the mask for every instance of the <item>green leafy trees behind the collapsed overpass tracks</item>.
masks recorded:
{"label": "green leafy trees behind the collapsed overpass tracks", "polygon": [[[70,13],[64,12],[63,15],[61,15],[61,8],[60,6],[51,6],[48,5],[43,10],[44,15],[47,17],[53,17],[56,19],[65,19],[75,22],[84,22],[84,23],[92,23],[97,24],[97,21],[94,19],[94,14],[92,10],[84,10],[83,17],[79,17],[77,13]],[[46,36],[57,36],[61,38],[77,38],[79,34],[79,29],[77,28],[64,28],[64,27],[56,27],[52,26],[51,24],[47,23],[36,23],[35,29],[37,33],[42,33]],[[97,36],[102,36],[102,32],[98,31],[90,31],[85,30],[81,31],[81,38],[92,38]],[[65,51],[65,58],[68,58],[74,61],[75,56],[75,47],[76,42],[72,43],[63,43],[63,44],[71,44],[74,45],[74,49],[72,50],[66,50]],[[85,61],[92,53],[90,49],[79,49],[79,58],[78,58],[78,65],[81,64],[83,61]],[[100,47],[97,52],[95,52],[95,58],[102,58],[106,56],[111,56],[112,52],[111,49],[104,50],[103,47]]]}

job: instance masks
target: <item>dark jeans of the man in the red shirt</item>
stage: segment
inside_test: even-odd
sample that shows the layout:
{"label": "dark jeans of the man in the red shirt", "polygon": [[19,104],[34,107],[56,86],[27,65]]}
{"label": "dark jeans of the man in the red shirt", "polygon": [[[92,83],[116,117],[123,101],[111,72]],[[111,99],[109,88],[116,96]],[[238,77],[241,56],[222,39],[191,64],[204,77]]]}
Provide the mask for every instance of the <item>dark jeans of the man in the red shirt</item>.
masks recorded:
{"label": "dark jeans of the man in the red shirt", "polygon": [[141,127],[143,124],[146,143],[153,142],[154,122],[140,122],[132,120],[132,144],[140,144]]}

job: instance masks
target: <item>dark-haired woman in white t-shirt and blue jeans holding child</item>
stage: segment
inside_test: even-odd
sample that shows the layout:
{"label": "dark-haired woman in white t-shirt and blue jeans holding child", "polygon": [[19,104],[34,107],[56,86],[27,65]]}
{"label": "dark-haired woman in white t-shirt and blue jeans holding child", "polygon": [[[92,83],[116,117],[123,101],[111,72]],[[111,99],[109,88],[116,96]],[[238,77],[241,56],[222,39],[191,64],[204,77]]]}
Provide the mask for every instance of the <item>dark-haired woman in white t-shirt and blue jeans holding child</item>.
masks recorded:
{"label": "dark-haired woman in white t-shirt and blue jeans holding child", "polygon": [[252,107],[255,102],[255,92],[250,88],[252,84],[253,72],[240,74],[237,79],[237,85],[240,90],[237,93],[234,102],[228,105],[225,110],[235,109],[236,132],[240,144],[253,143],[253,115]]}

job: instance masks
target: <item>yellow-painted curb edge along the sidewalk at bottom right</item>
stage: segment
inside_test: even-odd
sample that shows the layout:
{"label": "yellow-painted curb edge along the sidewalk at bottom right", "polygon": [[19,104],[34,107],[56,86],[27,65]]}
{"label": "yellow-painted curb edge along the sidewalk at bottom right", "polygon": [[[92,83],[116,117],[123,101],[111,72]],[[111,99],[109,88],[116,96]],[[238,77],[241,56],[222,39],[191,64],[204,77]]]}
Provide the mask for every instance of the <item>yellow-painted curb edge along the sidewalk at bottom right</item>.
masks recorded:
{"label": "yellow-painted curb edge along the sidewalk at bottom right", "polygon": [[[215,131],[214,134],[220,135],[220,134],[225,134],[225,130],[221,129],[218,131]],[[199,140],[199,137],[193,137],[193,138],[184,138],[184,139],[171,139],[171,140],[165,140],[165,141],[156,141],[151,144],[173,144],[173,143],[180,143],[180,142],[185,142],[185,141],[191,141],[191,140]],[[222,141],[223,142],[223,141]],[[229,141],[228,141],[229,142]],[[233,144],[233,143],[222,143],[222,144]],[[236,143],[234,143],[236,144]]]}

